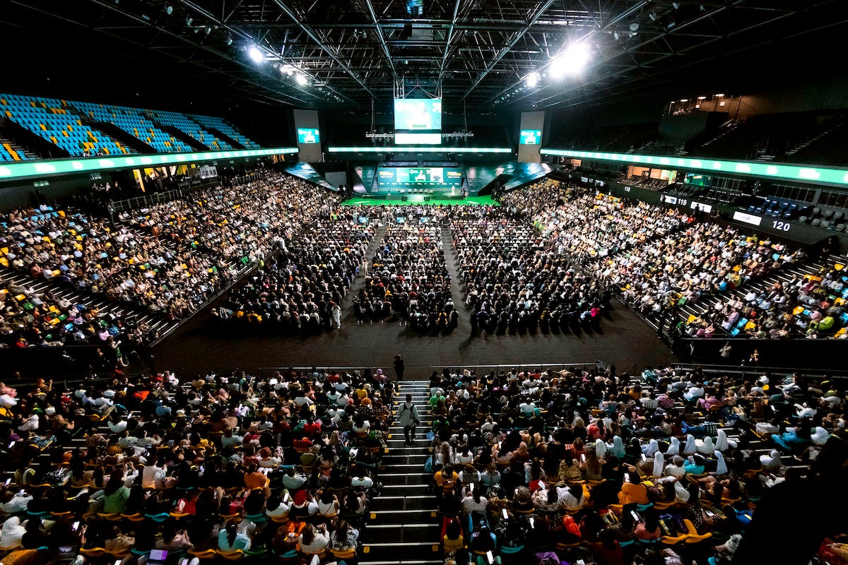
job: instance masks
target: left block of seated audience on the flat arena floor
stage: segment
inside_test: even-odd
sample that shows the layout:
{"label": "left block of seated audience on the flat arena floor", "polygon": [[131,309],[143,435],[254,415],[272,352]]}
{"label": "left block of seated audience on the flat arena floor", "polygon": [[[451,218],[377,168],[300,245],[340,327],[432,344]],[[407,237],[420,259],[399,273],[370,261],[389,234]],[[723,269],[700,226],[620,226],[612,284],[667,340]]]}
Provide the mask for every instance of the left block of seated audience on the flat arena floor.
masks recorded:
{"label": "left block of seated audience on the flat arena floor", "polygon": [[213,316],[257,331],[315,334],[342,326],[342,301],[374,238],[371,224],[332,212],[310,224],[230,291]]}

